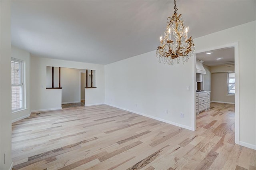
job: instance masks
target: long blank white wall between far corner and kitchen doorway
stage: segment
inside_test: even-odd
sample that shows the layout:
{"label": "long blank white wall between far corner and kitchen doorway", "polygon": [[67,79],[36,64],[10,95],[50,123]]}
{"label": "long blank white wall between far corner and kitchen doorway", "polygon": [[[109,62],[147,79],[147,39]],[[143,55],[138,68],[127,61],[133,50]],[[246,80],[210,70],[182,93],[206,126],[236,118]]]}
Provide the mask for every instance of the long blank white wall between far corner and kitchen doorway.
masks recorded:
{"label": "long blank white wall between far corner and kitchen doorway", "polygon": [[105,102],[192,129],[192,62],[164,65],[151,51],[105,65]]}

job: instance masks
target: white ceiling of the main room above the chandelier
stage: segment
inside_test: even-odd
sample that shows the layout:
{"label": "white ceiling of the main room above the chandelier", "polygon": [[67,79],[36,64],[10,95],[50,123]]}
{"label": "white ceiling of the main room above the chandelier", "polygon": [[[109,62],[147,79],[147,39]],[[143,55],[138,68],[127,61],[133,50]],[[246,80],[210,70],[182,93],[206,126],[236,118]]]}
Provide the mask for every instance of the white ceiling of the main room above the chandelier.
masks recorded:
{"label": "white ceiling of the main room above the chandelier", "polygon": [[[177,7],[192,38],[256,20],[255,0]],[[155,50],[172,13],[173,0],[13,0],[12,44],[38,57],[108,64]]]}

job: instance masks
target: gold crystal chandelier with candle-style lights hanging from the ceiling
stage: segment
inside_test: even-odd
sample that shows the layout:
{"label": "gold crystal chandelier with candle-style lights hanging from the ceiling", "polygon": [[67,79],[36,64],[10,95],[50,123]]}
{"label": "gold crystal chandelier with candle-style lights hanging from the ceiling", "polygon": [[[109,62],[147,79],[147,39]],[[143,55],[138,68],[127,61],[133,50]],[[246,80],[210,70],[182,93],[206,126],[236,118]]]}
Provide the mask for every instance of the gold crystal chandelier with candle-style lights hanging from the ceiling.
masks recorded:
{"label": "gold crystal chandelier with candle-style lights hanging from the ceiling", "polygon": [[188,61],[190,55],[193,55],[194,41],[192,37],[188,38],[188,27],[185,27],[182,15],[178,15],[177,10],[176,0],[174,0],[174,14],[167,18],[164,37],[160,37],[160,45],[156,49],[159,63],[163,61],[164,64],[173,65],[176,61],[179,64],[180,58],[184,63]]}

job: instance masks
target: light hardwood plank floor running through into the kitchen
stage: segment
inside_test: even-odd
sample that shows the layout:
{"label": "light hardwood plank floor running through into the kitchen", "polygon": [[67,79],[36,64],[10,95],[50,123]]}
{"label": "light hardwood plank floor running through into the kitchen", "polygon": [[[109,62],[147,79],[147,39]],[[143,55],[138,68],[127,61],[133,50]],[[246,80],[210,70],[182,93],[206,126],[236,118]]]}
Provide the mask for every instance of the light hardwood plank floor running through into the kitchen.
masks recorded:
{"label": "light hardwood plank floor running through into the kitchen", "polygon": [[234,144],[234,105],[211,103],[191,131],[108,105],[32,114],[12,124],[14,170],[256,169]]}

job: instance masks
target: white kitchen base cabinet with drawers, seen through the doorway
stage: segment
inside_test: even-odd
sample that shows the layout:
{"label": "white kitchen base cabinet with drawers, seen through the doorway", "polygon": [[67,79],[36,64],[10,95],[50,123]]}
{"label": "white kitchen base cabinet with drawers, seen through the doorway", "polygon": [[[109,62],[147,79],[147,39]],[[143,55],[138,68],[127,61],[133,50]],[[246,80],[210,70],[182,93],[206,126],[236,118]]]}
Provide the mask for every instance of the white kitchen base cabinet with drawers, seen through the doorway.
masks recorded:
{"label": "white kitchen base cabinet with drawers, seen through the doorway", "polygon": [[210,109],[210,91],[196,93],[196,114]]}

